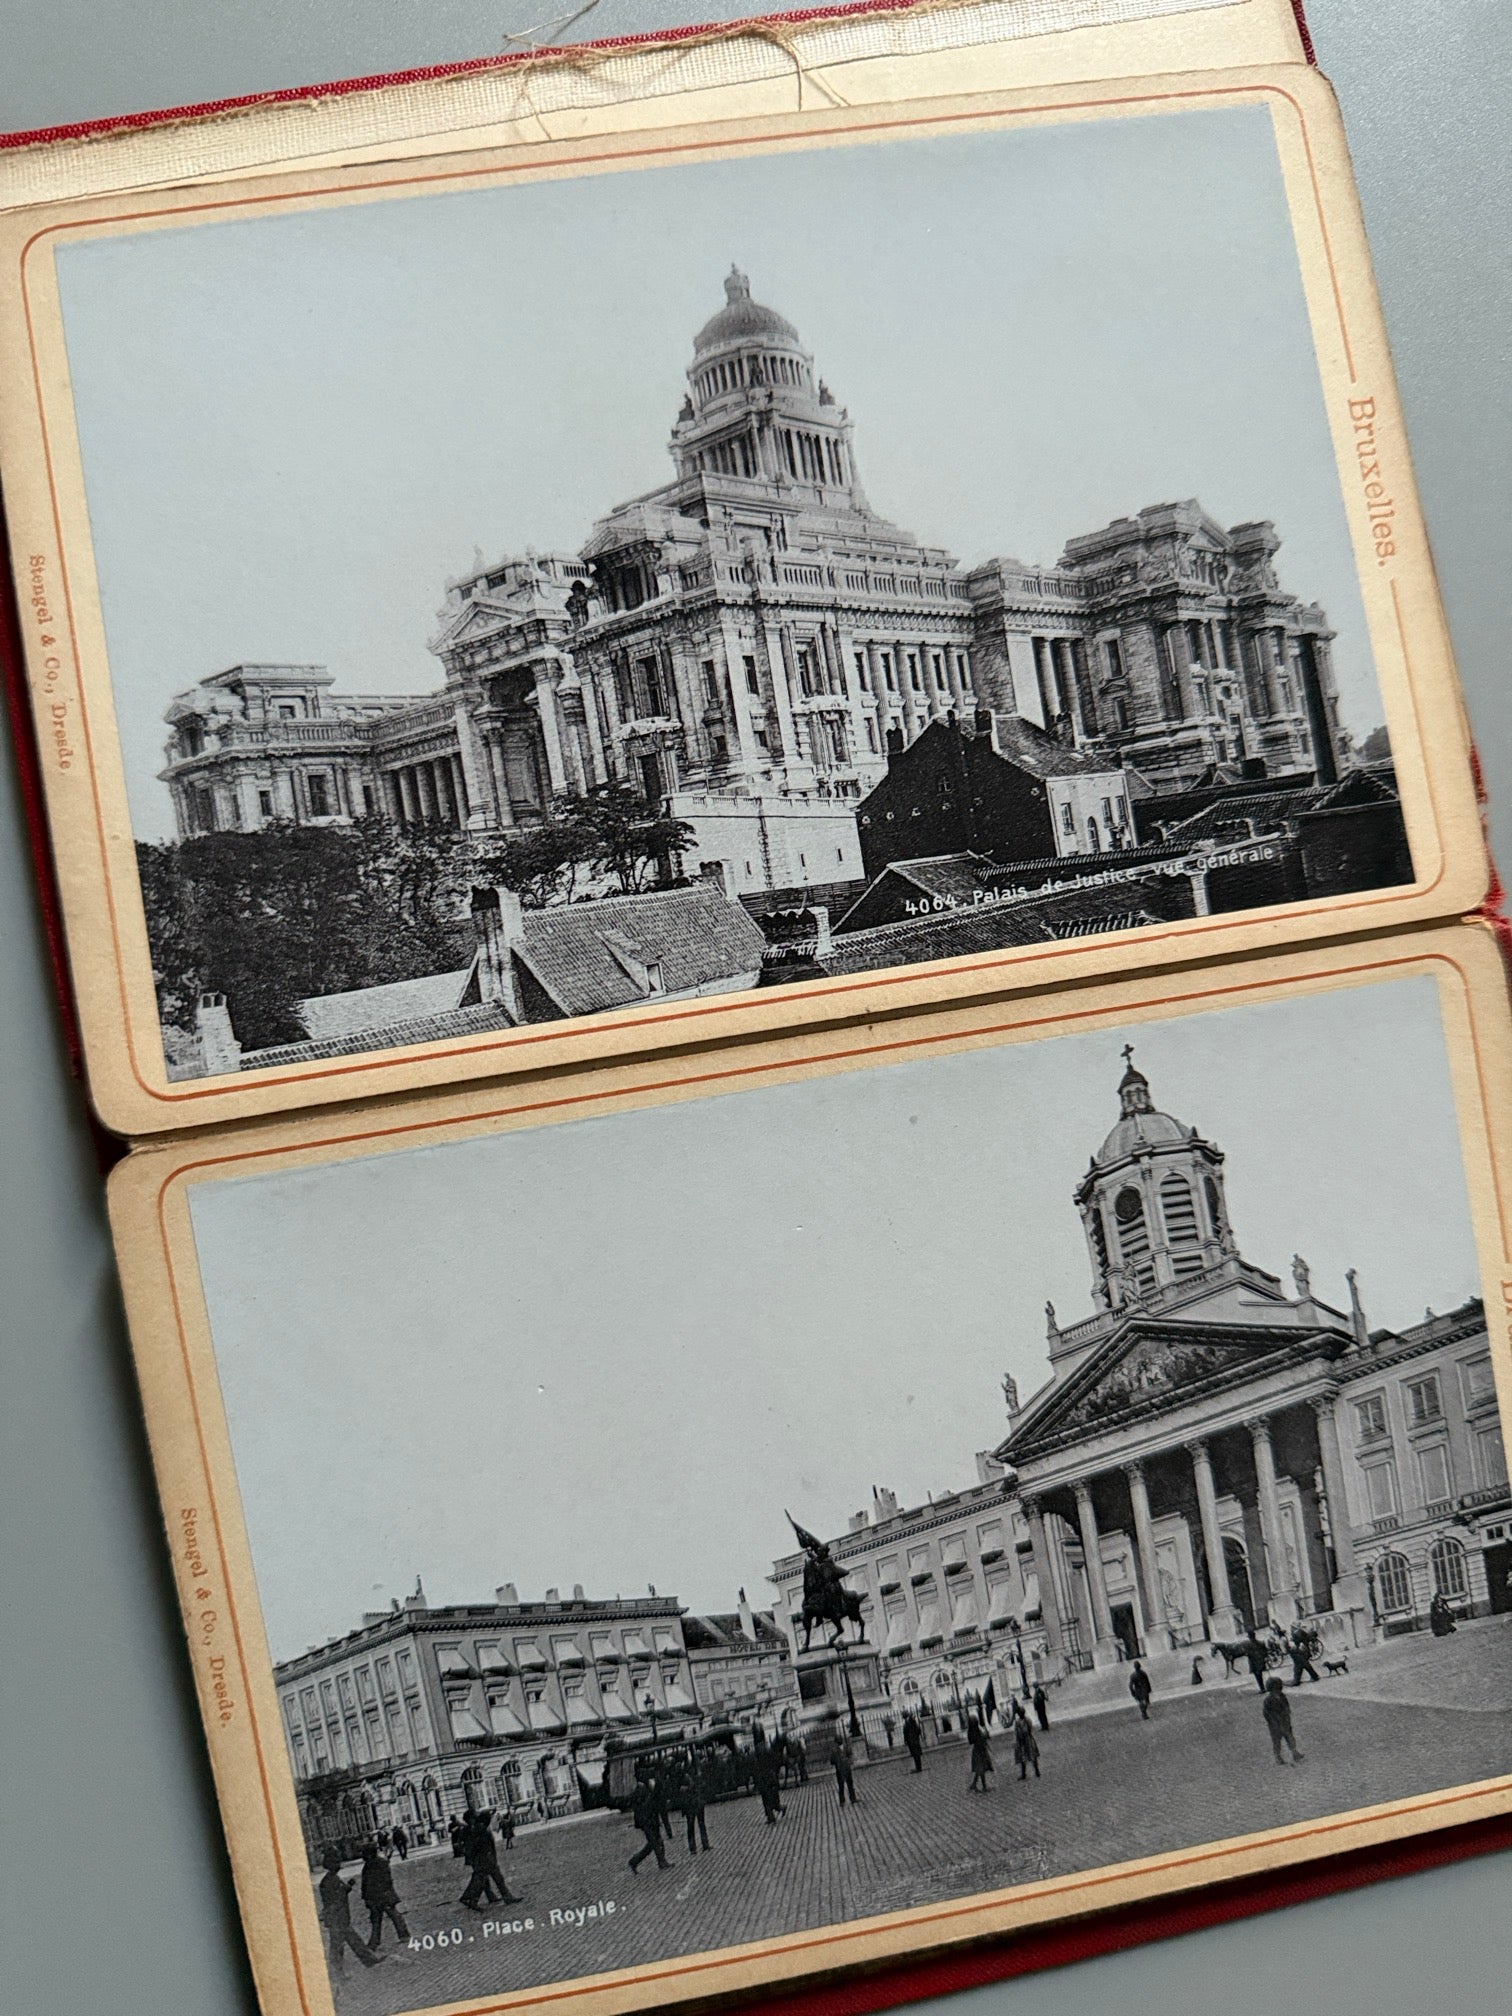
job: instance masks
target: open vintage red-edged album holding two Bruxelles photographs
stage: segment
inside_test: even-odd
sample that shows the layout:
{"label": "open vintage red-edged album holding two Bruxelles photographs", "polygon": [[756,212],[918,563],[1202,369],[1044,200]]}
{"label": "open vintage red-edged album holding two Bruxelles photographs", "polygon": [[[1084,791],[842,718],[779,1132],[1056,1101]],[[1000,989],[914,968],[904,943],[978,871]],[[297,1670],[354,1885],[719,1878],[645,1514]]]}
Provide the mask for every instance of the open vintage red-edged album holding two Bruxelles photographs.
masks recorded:
{"label": "open vintage red-edged album holding two Bruxelles photographs", "polygon": [[0,147],[8,671],[268,2016],[1512,1839],[1512,1018],[1282,0]]}

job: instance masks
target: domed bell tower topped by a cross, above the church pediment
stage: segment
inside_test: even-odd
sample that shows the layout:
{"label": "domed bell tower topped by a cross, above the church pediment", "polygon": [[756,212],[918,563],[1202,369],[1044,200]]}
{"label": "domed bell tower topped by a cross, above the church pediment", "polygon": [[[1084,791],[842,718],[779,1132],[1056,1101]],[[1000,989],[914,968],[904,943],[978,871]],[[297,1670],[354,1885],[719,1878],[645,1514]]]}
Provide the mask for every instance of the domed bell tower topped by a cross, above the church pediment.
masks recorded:
{"label": "domed bell tower topped by a cross, above the church pediment", "polygon": [[1224,1151],[1161,1113],[1123,1048],[1119,1119],[1077,1185],[1093,1294],[1101,1308],[1147,1302],[1238,1254],[1224,1198]]}

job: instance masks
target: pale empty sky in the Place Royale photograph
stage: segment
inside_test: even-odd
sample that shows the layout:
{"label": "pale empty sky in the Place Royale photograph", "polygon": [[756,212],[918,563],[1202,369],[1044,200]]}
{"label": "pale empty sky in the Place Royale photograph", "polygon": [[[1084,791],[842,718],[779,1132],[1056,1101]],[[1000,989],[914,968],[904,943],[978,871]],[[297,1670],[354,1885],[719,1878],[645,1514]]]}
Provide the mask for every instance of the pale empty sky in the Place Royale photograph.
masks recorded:
{"label": "pale empty sky in the Place Royale photograph", "polygon": [[[435,1603],[770,1601],[784,1506],[970,1484],[1093,1308],[1070,1193],[1123,1030],[206,1183],[194,1232],[276,1657]],[[1133,1032],[1240,1248],[1401,1327],[1478,1292],[1429,980]]]}

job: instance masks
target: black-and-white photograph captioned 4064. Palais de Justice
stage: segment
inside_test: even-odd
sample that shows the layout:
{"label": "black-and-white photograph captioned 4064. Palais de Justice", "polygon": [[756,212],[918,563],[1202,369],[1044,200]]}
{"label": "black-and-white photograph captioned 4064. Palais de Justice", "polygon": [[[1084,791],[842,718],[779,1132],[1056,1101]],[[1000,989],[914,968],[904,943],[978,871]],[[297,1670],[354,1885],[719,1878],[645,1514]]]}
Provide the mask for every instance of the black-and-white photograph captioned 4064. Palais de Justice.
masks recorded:
{"label": "black-and-white photograph captioned 4064. Palais de Justice", "polygon": [[56,286],[169,1081],[1413,883],[1264,107]]}

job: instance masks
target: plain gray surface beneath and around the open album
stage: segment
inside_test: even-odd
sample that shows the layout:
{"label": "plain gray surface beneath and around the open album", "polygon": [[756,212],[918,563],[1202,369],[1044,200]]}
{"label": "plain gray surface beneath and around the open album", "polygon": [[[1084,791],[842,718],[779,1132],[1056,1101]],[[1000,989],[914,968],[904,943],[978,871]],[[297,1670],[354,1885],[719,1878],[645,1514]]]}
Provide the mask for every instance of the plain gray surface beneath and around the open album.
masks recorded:
{"label": "plain gray surface beneath and around the open album", "polygon": [[[748,8],[601,0],[579,34]],[[0,129],[484,54],[550,0],[0,0]],[[1355,149],[1417,476],[1512,859],[1506,0],[1312,0]],[[93,1149],[0,758],[0,2010],[250,2016]],[[978,2016],[1480,2016],[1512,1859],[978,1990]],[[943,2008],[939,2004],[937,2008]]]}

